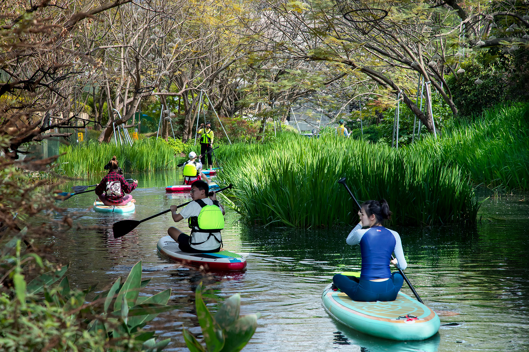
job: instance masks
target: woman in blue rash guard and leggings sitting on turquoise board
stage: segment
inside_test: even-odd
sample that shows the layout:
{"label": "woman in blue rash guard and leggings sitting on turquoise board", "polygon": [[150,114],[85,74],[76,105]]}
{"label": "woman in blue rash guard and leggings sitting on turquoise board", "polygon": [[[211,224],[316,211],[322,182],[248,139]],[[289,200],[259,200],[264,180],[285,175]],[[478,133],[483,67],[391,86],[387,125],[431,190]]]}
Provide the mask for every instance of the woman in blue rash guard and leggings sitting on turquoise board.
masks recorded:
{"label": "woman in blue rash guard and leggings sitting on turquoise board", "polygon": [[[333,277],[334,285],[353,301],[394,301],[402,288],[404,278],[398,272],[391,274],[390,263],[401,270],[404,270],[407,264],[400,236],[396,231],[382,226],[383,221],[391,216],[388,202],[385,199],[368,200],[362,204],[358,215],[360,223],[353,228],[345,242],[352,246],[360,244],[360,279],[336,274]],[[396,259],[391,260],[393,252]]]}

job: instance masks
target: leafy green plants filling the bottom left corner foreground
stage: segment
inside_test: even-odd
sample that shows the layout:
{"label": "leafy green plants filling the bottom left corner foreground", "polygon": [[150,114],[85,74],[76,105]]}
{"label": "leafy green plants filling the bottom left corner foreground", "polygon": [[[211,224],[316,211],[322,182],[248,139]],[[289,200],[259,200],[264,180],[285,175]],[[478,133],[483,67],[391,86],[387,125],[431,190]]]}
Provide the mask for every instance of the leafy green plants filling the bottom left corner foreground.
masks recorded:
{"label": "leafy green plants filling the bottom left corner foreground", "polygon": [[[175,309],[167,305],[170,289],[138,297],[148,282],[141,281],[141,262],[124,283],[118,278],[110,290],[86,303],[92,289],[71,290],[64,276],[68,266],[39,275],[26,285],[23,258],[31,256],[20,256],[20,244],[20,237],[15,238],[17,254],[0,258],[13,264],[13,287],[0,293],[0,349],[158,352],[169,344],[169,339],[157,342],[154,332],[141,330],[159,313]],[[114,309],[109,311],[110,307]]]}

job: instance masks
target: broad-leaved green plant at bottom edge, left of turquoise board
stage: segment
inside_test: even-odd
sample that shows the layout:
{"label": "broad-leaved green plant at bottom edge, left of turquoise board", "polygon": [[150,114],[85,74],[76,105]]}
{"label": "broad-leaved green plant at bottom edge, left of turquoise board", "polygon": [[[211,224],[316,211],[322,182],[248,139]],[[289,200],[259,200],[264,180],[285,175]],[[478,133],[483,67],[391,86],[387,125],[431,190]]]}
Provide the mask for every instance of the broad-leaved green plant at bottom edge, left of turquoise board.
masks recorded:
{"label": "broad-leaved green plant at bottom edge, left of turquoise board", "polygon": [[248,344],[257,329],[260,314],[249,314],[239,317],[241,295],[232,295],[227,299],[214,316],[208,311],[202,299],[202,284],[195,291],[197,318],[202,328],[206,347],[187,329],[184,329],[184,340],[191,352],[238,352]]}

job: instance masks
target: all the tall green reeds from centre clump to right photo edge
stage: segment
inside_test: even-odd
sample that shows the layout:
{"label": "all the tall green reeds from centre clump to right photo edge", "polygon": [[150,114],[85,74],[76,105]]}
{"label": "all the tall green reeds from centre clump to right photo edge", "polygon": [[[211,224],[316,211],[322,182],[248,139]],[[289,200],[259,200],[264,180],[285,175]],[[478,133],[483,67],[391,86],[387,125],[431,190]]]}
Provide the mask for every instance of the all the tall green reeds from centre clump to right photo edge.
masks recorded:
{"label": "all the tall green reeds from centre clump to right photo edge", "polygon": [[386,198],[393,224],[471,224],[473,186],[527,189],[528,117],[527,104],[496,107],[398,150],[334,133],[282,134],[220,148],[219,178],[237,186],[234,206],[260,225],[350,224],[357,210],[341,177],[359,200]]}

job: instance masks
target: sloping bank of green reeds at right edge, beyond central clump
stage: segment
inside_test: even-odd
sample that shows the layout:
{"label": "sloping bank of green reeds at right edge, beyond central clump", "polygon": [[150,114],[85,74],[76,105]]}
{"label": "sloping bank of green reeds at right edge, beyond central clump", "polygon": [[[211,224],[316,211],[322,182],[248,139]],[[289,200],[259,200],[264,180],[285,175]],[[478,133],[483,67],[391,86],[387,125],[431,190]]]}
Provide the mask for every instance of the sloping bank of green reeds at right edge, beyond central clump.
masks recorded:
{"label": "sloping bank of green reeds at right edge, beyond central clump", "polygon": [[438,163],[459,165],[475,184],[528,190],[529,104],[486,110],[443,129],[441,138],[427,135],[407,150]]}

